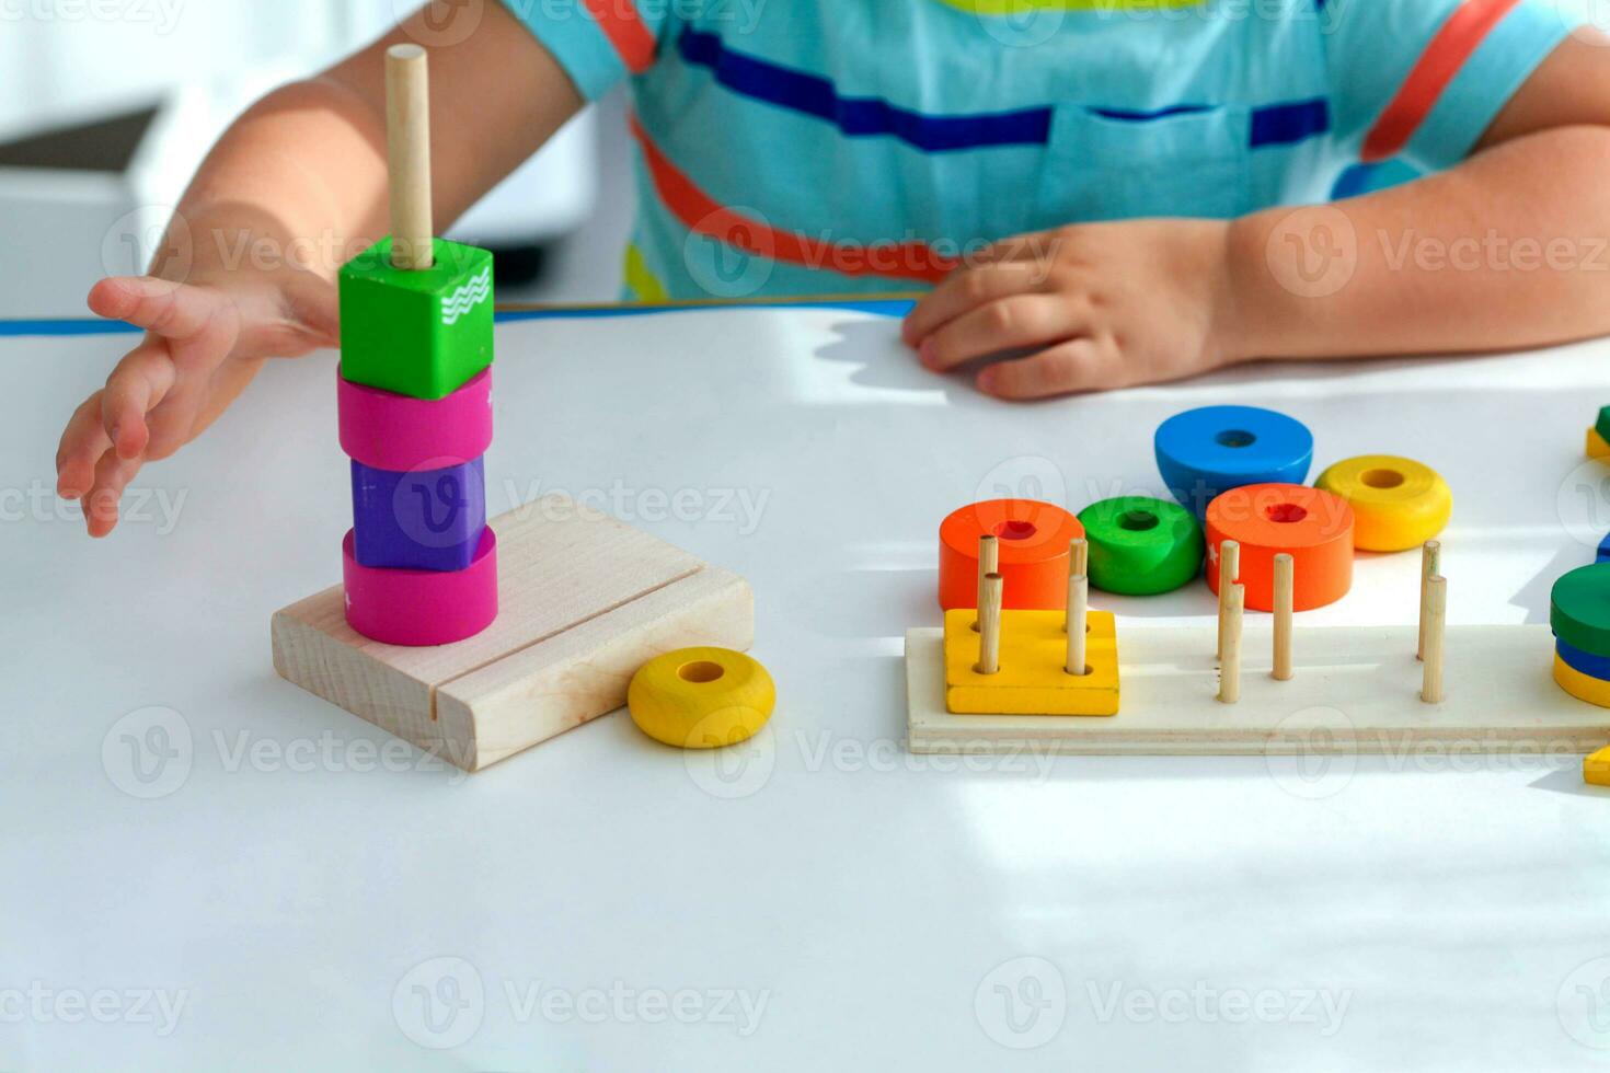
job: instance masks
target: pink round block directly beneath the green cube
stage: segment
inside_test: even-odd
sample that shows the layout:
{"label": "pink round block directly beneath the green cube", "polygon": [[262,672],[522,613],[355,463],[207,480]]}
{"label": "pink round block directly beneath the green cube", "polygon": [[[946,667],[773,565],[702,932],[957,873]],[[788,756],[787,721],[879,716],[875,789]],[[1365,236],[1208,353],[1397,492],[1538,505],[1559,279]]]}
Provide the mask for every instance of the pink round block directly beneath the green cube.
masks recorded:
{"label": "pink round block directly beneath the green cube", "polygon": [[[341,450],[372,470],[407,473],[464,465],[493,442],[493,370],[483,368],[441,399],[354,384],[336,373]],[[448,462],[443,462],[443,460]]]}

